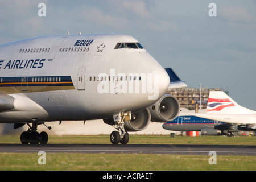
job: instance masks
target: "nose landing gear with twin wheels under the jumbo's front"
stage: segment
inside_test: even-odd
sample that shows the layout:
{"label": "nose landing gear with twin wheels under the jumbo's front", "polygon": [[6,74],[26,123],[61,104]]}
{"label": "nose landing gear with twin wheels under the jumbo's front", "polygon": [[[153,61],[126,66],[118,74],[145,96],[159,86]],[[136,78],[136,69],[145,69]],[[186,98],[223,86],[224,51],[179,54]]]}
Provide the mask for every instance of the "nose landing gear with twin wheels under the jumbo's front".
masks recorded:
{"label": "nose landing gear with twin wheels under the jumbo's front", "polygon": [[113,126],[118,131],[112,131],[110,141],[112,144],[127,144],[129,142],[129,134],[125,131],[125,122],[131,120],[131,111],[121,112],[113,116],[115,125]]}

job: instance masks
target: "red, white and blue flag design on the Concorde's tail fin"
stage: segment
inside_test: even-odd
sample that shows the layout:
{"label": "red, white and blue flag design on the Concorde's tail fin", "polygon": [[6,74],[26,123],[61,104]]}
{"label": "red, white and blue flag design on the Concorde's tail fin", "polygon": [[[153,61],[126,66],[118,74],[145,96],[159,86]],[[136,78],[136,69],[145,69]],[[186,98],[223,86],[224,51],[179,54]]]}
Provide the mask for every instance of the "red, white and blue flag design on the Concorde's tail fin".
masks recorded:
{"label": "red, white and blue flag design on the Concorde's tail fin", "polygon": [[207,112],[209,111],[220,111],[225,107],[235,106],[232,101],[228,98],[218,99],[218,98],[209,98],[207,104]]}

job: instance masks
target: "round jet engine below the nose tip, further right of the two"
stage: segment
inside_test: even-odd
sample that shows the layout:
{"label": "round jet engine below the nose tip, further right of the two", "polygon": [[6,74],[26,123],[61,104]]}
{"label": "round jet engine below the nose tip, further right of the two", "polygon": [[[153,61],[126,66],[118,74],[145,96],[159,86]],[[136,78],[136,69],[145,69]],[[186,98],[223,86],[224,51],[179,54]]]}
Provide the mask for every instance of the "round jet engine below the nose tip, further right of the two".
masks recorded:
{"label": "round jet engine below the nose tip, further right of the two", "polygon": [[148,107],[151,121],[166,122],[174,120],[180,113],[180,103],[176,97],[164,94],[160,100]]}

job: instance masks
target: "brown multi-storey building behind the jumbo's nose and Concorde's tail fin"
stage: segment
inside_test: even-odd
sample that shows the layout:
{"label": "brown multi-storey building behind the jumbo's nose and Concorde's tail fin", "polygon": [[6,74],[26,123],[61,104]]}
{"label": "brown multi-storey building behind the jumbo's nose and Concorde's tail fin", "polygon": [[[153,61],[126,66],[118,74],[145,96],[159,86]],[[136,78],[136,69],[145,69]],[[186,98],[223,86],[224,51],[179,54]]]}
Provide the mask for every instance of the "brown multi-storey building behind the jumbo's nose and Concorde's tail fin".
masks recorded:
{"label": "brown multi-storey building behind the jumbo's nose and Concorde's tail fin", "polygon": [[[207,108],[208,96],[210,91],[224,91],[220,88],[201,88],[201,109]],[[200,109],[200,88],[181,88],[172,89],[167,92],[172,94],[180,102],[180,107],[187,108],[189,110],[195,110],[196,103]],[[228,94],[228,92],[225,92]]]}

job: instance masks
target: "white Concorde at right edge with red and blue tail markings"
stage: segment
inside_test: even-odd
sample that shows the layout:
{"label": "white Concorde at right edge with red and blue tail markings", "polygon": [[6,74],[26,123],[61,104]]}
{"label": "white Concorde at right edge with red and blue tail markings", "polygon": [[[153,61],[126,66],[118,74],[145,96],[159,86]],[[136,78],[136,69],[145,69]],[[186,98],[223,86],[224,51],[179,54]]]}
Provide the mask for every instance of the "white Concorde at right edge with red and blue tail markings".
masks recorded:
{"label": "white Concorde at right edge with red and blue tail markings", "polygon": [[206,114],[192,115],[232,123],[238,125],[238,129],[241,130],[255,131],[256,129],[256,111],[238,105],[222,91],[210,91]]}

